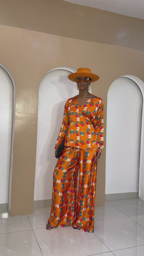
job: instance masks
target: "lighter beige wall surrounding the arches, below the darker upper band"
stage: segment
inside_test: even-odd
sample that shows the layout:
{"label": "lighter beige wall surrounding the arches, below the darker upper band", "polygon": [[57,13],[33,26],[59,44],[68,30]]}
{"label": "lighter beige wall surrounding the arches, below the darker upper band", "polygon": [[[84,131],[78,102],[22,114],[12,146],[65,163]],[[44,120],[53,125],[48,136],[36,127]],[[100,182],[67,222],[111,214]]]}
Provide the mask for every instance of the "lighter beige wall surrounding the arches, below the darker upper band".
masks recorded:
{"label": "lighter beige wall surrounding the arches, below the darker upper band", "polygon": [[[0,60],[16,85],[11,216],[33,211],[37,102],[42,77],[57,66],[90,67],[100,76],[93,94],[104,100],[106,128],[107,92],[118,76],[132,74],[144,80],[144,52],[36,31],[0,26]],[[50,97],[53,95],[50,95]],[[96,205],[104,204],[105,149],[98,165]]]}

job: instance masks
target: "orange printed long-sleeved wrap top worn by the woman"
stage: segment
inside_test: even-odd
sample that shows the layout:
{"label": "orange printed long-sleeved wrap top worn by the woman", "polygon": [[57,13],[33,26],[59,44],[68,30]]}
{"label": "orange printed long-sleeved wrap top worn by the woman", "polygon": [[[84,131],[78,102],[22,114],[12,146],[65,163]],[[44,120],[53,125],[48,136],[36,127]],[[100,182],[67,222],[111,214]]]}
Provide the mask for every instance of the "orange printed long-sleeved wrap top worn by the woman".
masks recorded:
{"label": "orange printed long-sleeved wrap top worn by the woman", "polygon": [[102,152],[103,131],[103,100],[93,95],[80,107],[77,96],[72,97],[64,106],[63,122],[55,148],[65,140],[66,147]]}

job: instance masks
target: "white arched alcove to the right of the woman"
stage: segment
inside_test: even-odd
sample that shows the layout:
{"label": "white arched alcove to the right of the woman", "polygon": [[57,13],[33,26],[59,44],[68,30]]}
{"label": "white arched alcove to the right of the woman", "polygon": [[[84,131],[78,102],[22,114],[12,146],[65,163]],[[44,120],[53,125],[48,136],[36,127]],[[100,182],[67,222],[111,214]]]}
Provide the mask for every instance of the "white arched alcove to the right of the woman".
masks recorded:
{"label": "white arched alcove to the right of the woman", "polygon": [[[118,77],[108,91],[106,199],[144,199],[144,82]],[[138,188],[139,183],[139,188]]]}

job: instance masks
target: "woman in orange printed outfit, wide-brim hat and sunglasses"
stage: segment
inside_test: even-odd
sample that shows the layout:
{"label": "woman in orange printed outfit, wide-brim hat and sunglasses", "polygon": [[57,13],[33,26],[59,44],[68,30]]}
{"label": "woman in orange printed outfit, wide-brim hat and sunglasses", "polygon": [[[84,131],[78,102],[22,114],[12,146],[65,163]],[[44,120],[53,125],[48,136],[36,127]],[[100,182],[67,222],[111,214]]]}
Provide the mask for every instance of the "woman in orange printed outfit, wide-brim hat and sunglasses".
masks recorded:
{"label": "woman in orange printed outfit, wide-brim hat and sunglasses", "polygon": [[68,99],[64,107],[55,155],[64,140],[65,147],[53,174],[51,213],[46,229],[72,225],[94,232],[96,167],[104,147],[103,101],[89,93],[89,86],[99,76],[89,68],[78,68],[68,78],[77,82],[79,94]]}

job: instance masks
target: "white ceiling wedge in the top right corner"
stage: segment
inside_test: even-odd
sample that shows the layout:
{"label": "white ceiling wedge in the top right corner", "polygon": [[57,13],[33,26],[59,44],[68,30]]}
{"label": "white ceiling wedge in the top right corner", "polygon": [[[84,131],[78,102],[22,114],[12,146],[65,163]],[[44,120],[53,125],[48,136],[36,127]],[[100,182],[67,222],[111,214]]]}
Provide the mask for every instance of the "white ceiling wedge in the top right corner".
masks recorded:
{"label": "white ceiling wedge in the top right corner", "polygon": [[144,0],[63,0],[101,10],[144,19]]}

